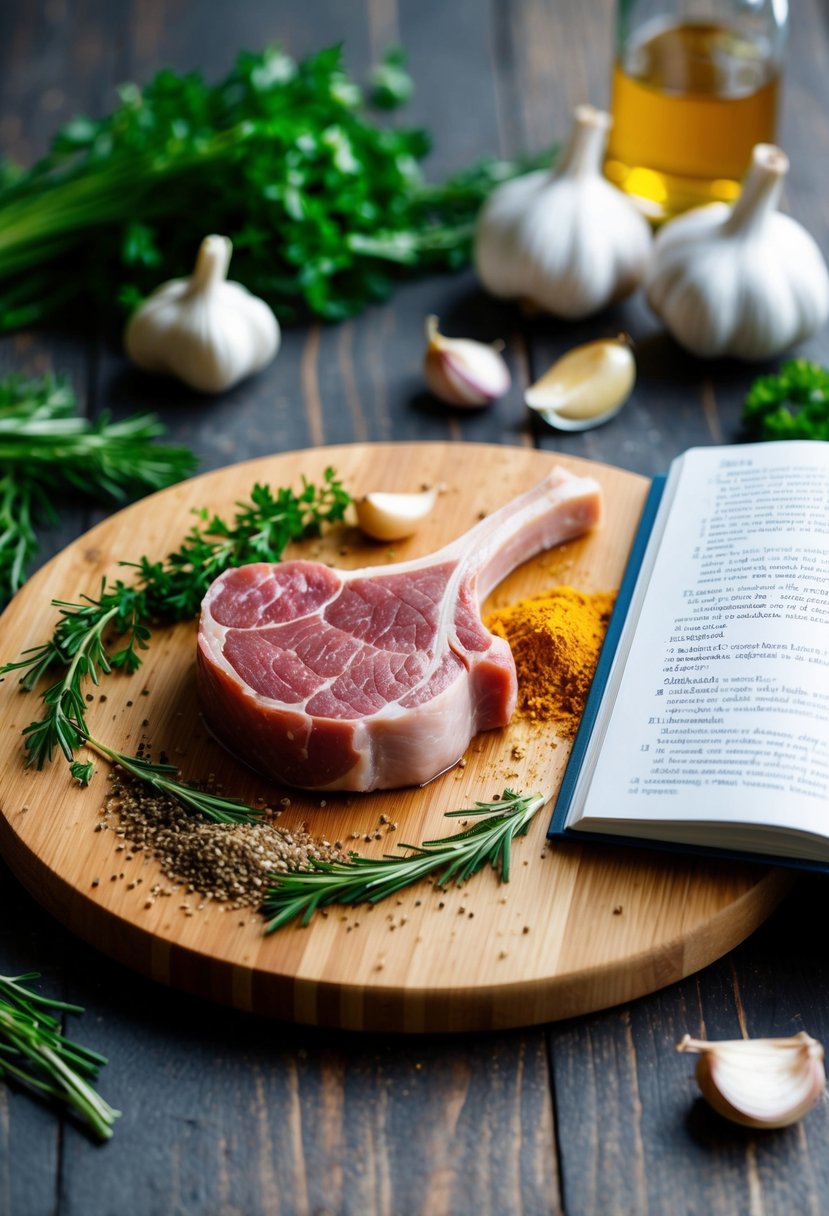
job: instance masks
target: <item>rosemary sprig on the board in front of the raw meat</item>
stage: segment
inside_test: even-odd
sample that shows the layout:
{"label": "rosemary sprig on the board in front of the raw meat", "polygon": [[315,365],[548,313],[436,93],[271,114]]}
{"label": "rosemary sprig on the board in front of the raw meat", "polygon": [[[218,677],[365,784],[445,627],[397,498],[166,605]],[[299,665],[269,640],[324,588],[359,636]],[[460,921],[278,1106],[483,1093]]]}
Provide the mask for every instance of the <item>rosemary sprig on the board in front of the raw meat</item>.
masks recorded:
{"label": "rosemary sprig on the board in front of the raw meat", "polygon": [[542,794],[517,794],[504,789],[500,799],[475,803],[450,817],[479,818],[472,827],[410,849],[407,857],[387,855],[377,860],[353,854],[350,862],[312,861],[312,869],[273,876],[261,907],[269,917],[265,933],[273,933],[301,917],[305,925],[317,908],[331,903],[378,903],[405,886],[440,871],[435,886],[464,883],[484,866],[498,871],[501,882],[509,882],[511,846],[515,837],[525,835],[532,816],[547,799]]}

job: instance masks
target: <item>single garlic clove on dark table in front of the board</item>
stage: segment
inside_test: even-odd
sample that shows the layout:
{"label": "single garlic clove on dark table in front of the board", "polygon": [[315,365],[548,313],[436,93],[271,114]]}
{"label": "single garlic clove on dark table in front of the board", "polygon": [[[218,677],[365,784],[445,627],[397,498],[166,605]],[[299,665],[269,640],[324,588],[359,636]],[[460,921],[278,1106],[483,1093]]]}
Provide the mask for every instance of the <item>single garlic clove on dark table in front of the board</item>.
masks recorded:
{"label": "single garlic clove on dark table in front of the board", "polygon": [[791,1038],[706,1042],[689,1035],[678,1052],[699,1052],[697,1082],[714,1109],[745,1127],[788,1127],[812,1109],[827,1083],[823,1047],[801,1030]]}

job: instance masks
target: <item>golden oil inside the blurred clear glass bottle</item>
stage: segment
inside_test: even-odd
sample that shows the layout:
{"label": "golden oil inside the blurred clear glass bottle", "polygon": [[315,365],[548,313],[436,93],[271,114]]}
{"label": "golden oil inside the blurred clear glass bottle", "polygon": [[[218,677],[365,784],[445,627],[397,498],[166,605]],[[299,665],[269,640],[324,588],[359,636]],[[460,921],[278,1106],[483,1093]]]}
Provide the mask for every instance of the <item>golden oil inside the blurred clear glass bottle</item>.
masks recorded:
{"label": "golden oil inside the blurred clear glass bottle", "polygon": [[724,26],[643,33],[614,71],[608,178],[654,219],[732,201],[774,140],[777,64]]}

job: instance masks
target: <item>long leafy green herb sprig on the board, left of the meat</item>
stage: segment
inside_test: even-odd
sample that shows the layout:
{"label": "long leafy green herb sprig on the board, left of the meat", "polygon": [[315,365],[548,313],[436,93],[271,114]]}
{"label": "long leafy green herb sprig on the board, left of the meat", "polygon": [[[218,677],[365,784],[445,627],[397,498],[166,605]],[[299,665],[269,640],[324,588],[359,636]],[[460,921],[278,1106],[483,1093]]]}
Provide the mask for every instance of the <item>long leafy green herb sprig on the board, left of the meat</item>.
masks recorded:
{"label": "long leafy green herb sprig on the board, left of the meat", "polygon": [[[84,596],[80,603],[52,601],[60,609],[52,636],[0,666],[0,676],[22,671],[26,692],[50,670],[63,669],[41,694],[40,719],[23,731],[27,762],[43,769],[56,749],[73,759],[89,736],[85,681],[97,685],[112,669],[136,671],[153,625],[194,617],[222,570],[248,562],[278,562],[288,544],[318,535],[323,524],[340,520],[350,501],[332,468],[325,471],[320,486],[303,479],[299,494],[254,485],[250,501],[237,503],[232,524],[207,511],[196,512],[199,523],[167,558],[122,562],[136,572],[132,582],[105,581],[97,597]],[[118,638],[118,644],[111,638]]]}

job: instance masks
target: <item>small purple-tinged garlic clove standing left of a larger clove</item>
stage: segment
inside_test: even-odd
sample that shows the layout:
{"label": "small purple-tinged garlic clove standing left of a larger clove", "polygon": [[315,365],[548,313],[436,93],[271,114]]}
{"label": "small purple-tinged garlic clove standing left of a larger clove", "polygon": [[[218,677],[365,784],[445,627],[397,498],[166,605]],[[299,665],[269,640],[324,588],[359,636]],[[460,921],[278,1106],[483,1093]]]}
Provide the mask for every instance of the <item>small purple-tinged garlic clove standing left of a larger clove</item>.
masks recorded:
{"label": "small purple-tinged garlic clove standing left of a larger clove", "polygon": [[436,316],[427,317],[425,336],[423,376],[441,401],[487,405],[509,389],[509,368],[495,347],[470,338],[445,338]]}

